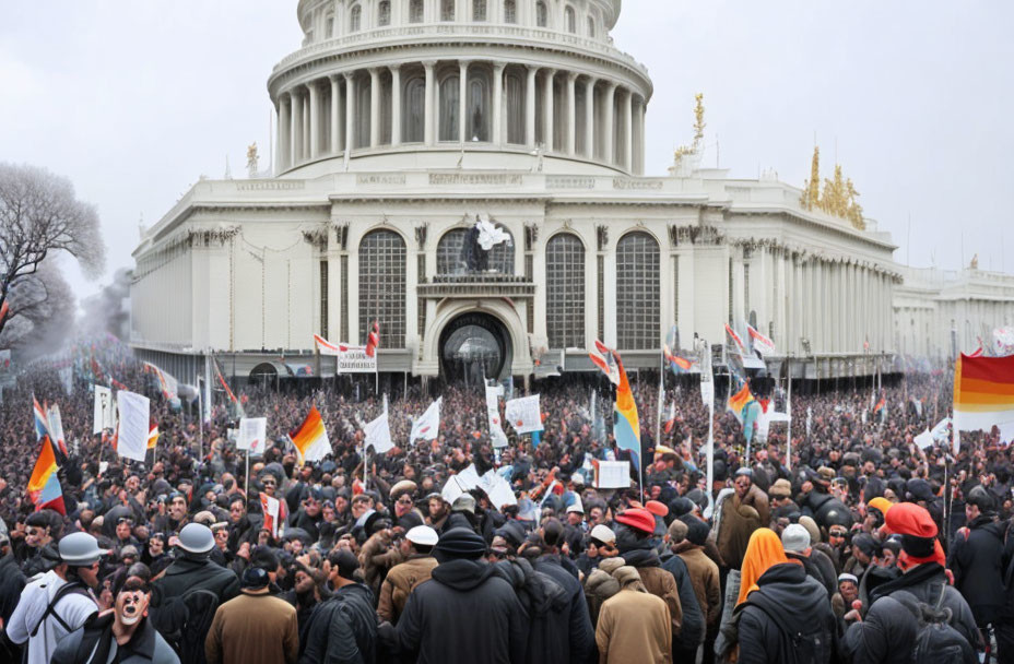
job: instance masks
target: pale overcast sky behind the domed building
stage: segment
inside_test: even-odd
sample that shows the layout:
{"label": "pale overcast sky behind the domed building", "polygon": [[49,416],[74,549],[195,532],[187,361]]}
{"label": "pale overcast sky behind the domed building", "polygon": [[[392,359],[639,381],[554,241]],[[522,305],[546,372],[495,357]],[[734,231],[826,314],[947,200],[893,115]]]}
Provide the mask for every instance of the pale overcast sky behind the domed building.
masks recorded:
{"label": "pale overcast sky behind the domed building", "polygon": [[[815,137],[822,175],[837,153],[897,261],[978,253],[1014,272],[1014,3],[623,4],[616,45],[655,82],[648,175],[689,141],[703,92],[707,165],[801,186]],[[266,82],[299,46],[295,14],[295,0],[3,2],[0,159],[69,177],[98,206],[107,273],[132,266],[142,214],[150,226],[222,177],[226,156],[244,177],[252,141],[267,165]],[[70,275],[81,296],[98,287]]]}

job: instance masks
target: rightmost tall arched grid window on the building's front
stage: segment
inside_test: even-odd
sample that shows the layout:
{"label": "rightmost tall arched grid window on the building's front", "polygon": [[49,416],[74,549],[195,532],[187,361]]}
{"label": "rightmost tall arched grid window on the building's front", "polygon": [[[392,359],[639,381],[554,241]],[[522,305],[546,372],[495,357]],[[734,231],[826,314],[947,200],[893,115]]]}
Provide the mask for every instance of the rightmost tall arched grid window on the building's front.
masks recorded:
{"label": "rightmost tall arched grid window on the building's front", "polygon": [[659,346],[659,244],[637,230],[616,245],[616,342],[620,349]]}

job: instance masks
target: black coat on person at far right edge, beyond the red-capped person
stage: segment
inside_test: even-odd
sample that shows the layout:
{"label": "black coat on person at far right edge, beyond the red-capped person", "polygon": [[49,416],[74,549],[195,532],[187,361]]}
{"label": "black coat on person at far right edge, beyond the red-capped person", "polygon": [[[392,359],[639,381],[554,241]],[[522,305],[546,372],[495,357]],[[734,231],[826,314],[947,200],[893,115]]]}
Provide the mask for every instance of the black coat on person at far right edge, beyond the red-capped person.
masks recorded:
{"label": "black coat on person at far right edge, beyond the red-capped person", "polygon": [[1001,561],[1005,525],[982,514],[952,541],[947,567],[954,572],[954,588],[968,602],[979,627],[1000,616],[1006,598]]}

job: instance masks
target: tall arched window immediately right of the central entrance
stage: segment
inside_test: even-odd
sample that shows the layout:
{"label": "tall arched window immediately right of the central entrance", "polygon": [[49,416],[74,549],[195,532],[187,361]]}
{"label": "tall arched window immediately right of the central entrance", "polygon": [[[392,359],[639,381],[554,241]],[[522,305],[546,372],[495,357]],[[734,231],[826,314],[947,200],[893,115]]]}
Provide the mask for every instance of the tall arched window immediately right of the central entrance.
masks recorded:
{"label": "tall arched window immediately right of the central entrance", "polygon": [[585,246],[562,233],[545,246],[546,332],[551,348],[585,347]]}

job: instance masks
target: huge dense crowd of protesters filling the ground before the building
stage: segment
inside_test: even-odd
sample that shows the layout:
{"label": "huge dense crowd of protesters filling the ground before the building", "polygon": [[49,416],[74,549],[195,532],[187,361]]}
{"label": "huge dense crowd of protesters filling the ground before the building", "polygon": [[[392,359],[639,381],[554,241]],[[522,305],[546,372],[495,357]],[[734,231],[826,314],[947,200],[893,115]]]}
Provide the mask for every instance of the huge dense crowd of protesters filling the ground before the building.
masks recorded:
{"label": "huge dense crowd of protesters filling the ground before the building", "polygon": [[[90,435],[91,366],[152,395],[146,463]],[[273,441],[251,460],[227,401],[201,423],[151,379],[120,352],[79,358],[71,394],[51,363],[3,392],[0,660],[1014,662],[1010,448],[997,431],[963,435],[956,454],[915,443],[948,413],[946,375],[875,394],[798,386],[791,446],[776,425],[750,458],[716,407],[711,486],[695,381],[670,379],[664,425],[658,387],[635,382],[644,490],[638,469],[628,489],[596,486],[596,462],[629,456],[599,420],[612,396],[594,379],[539,384],[541,441],[510,435],[503,450],[483,395],[453,387],[439,436],[409,444],[435,396],[410,389],[390,404],[386,454],[363,450],[375,396],[235,386]],[[758,396],[783,407],[776,392]],[[66,515],[25,493],[33,396],[60,404]],[[300,466],[284,435],[311,404],[333,453]],[[449,498],[470,466],[515,500]]]}

